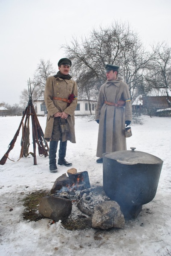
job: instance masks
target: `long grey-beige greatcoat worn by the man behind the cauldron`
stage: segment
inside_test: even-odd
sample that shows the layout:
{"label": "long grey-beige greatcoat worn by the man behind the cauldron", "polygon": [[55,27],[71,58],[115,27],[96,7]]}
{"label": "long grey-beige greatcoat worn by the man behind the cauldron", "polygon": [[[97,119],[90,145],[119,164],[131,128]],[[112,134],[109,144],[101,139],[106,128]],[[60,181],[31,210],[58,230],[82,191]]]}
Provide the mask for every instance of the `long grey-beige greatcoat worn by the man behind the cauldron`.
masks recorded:
{"label": "long grey-beige greatcoat worn by the man behind the cauldron", "polygon": [[[119,100],[126,101],[125,107],[104,103],[117,103]],[[128,85],[120,77],[101,85],[95,119],[99,120],[97,157],[102,157],[103,153],[127,149],[124,129],[125,121],[132,121],[132,108]]]}

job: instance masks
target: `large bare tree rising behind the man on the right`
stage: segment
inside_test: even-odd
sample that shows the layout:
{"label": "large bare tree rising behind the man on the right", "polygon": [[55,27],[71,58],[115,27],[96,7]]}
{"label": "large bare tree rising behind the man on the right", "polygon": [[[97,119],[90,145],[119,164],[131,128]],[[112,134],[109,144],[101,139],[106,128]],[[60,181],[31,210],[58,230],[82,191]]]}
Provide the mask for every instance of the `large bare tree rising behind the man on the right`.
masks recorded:
{"label": "large bare tree rising behind the man on the right", "polygon": [[106,81],[105,64],[119,65],[120,74],[128,83],[133,95],[137,84],[142,83],[142,70],[147,59],[138,35],[129,23],[115,22],[106,28],[93,29],[89,37],[73,38],[62,47],[72,60],[78,90],[89,99],[96,97]]}

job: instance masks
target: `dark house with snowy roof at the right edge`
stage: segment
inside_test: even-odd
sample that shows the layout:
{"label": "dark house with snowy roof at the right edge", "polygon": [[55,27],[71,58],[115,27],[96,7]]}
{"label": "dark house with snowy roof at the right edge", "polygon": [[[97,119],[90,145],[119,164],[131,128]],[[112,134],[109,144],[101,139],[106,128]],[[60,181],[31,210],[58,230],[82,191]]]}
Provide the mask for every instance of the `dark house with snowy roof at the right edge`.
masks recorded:
{"label": "dark house with snowy roof at the right edge", "polygon": [[[171,90],[168,89],[168,101],[171,102]],[[146,96],[142,96],[143,107],[164,109],[169,108],[165,88],[153,88]]]}

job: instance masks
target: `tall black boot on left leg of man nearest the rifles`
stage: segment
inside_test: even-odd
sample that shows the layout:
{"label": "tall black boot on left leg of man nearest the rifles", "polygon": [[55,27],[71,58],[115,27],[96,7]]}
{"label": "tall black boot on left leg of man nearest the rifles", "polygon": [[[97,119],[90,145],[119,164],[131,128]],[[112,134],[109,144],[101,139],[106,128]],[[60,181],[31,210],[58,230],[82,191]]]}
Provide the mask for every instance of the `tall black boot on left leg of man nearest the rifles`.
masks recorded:
{"label": "tall black boot on left leg of man nearest the rifles", "polygon": [[49,170],[50,172],[57,172],[56,166],[56,151],[58,147],[58,141],[52,140],[49,143]]}

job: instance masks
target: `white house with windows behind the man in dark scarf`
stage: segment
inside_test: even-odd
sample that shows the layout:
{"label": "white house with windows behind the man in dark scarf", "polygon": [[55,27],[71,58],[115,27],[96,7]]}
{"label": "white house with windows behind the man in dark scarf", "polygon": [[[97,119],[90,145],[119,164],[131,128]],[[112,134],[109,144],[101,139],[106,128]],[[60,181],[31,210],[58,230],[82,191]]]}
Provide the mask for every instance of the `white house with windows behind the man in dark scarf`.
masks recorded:
{"label": "white house with windows behind the man in dark scarf", "polygon": [[[96,101],[90,100],[90,105],[88,104],[88,99],[78,99],[77,106],[75,108],[75,116],[78,115],[90,115],[90,109],[92,115],[95,114]],[[43,96],[36,100],[37,115],[46,115],[47,109],[44,102]]]}

